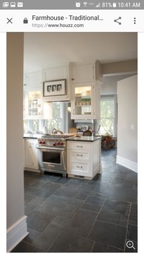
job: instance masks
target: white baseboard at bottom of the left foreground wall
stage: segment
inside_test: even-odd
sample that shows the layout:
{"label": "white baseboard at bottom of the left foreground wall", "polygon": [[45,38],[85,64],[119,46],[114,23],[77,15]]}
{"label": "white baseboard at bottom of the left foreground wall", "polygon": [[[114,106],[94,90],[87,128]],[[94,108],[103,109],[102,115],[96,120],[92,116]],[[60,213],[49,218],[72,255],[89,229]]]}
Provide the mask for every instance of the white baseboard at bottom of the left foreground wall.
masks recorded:
{"label": "white baseboard at bottom of the left foreground wall", "polygon": [[29,234],[29,232],[27,232],[26,219],[27,216],[23,216],[7,229],[7,252],[12,251],[12,249]]}

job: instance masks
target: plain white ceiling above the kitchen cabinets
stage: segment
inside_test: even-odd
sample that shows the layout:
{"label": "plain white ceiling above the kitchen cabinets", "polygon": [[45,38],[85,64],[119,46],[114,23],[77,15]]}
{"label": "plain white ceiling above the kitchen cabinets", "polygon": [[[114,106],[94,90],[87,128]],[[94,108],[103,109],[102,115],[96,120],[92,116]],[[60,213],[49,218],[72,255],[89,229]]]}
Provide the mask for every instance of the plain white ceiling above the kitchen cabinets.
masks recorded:
{"label": "plain white ceiling above the kitchen cabinets", "polygon": [[24,33],[24,70],[63,62],[137,59],[137,33]]}

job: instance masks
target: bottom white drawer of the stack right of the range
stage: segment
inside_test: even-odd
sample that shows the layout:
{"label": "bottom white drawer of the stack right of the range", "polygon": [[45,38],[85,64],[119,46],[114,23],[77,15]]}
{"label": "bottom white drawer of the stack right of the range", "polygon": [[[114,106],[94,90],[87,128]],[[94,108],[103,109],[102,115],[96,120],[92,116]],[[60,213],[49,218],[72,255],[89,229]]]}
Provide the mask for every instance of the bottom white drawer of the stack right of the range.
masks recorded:
{"label": "bottom white drawer of the stack right of the range", "polygon": [[91,163],[71,162],[69,164],[68,174],[75,174],[75,175],[90,177],[92,175],[91,174]]}

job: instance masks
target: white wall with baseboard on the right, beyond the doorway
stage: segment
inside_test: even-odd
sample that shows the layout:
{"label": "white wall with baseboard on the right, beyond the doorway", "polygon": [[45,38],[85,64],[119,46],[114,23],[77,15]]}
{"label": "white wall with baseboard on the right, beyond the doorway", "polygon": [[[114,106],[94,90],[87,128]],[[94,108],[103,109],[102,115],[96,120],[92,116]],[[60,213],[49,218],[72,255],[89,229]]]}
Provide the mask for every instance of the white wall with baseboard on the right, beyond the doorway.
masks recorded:
{"label": "white wall with baseboard on the right, beyond the doorway", "polygon": [[117,163],[137,171],[137,75],[118,81],[117,97]]}

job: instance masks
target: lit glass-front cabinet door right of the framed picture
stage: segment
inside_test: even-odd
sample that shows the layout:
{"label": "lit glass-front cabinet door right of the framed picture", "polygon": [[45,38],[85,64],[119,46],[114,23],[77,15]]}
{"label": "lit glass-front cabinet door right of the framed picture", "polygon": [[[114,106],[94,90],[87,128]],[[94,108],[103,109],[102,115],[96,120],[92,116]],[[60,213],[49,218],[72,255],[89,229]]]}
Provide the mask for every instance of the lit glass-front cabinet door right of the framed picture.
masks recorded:
{"label": "lit glass-front cabinet door right of the framed picture", "polygon": [[74,86],[71,119],[93,118],[93,86]]}

